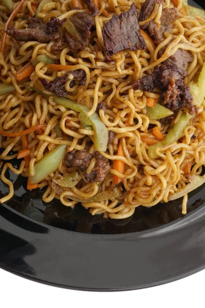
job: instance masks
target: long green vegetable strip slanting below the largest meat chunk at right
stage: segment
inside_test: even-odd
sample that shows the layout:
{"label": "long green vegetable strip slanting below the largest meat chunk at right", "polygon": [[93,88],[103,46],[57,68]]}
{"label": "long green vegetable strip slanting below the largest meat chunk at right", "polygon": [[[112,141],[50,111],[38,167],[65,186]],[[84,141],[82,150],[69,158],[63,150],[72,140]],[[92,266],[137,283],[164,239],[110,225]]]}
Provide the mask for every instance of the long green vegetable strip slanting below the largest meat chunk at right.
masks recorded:
{"label": "long green vegetable strip slanting below the largest meat chunk at right", "polygon": [[170,129],[165,139],[149,147],[148,150],[149,156],[151,158],[157,158],[158,155],[155,152],[157,147],[164,147],[177,141],[181,137],[185,127],[187,126],[189,119],[190,119],[189,115],[187,115],[186,113],[182,113],[180,120],[173,126],[172,129]]}

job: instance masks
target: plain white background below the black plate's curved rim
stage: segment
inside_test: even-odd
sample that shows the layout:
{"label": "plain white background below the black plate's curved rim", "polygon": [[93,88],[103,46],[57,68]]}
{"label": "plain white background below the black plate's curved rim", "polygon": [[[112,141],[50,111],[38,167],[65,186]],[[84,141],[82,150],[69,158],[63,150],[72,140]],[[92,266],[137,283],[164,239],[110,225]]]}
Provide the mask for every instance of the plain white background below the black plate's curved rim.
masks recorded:
{"label": "plain white background below the black plate's curved rim", "polygon": [[0,269],[1,308],[200,308],[205,307],[205,269],[151,288],[84,292],[48,286]]}

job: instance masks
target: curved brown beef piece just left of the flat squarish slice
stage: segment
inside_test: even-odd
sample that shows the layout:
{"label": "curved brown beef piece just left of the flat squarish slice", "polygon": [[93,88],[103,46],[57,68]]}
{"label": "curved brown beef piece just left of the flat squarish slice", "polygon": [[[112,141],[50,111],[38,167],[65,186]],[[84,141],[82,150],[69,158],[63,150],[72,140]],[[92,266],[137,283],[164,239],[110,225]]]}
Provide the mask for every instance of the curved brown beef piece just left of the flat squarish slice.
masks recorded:
{"label": "curved brown beef piece just left of the flat squarish slice", "polygon": [[94,18],[88,13],[76,13],[69,20],[79,37],[66,32],[64,34],[65,40],[71,51],[83,50],[89,43],[90,29],[95,25]]}

